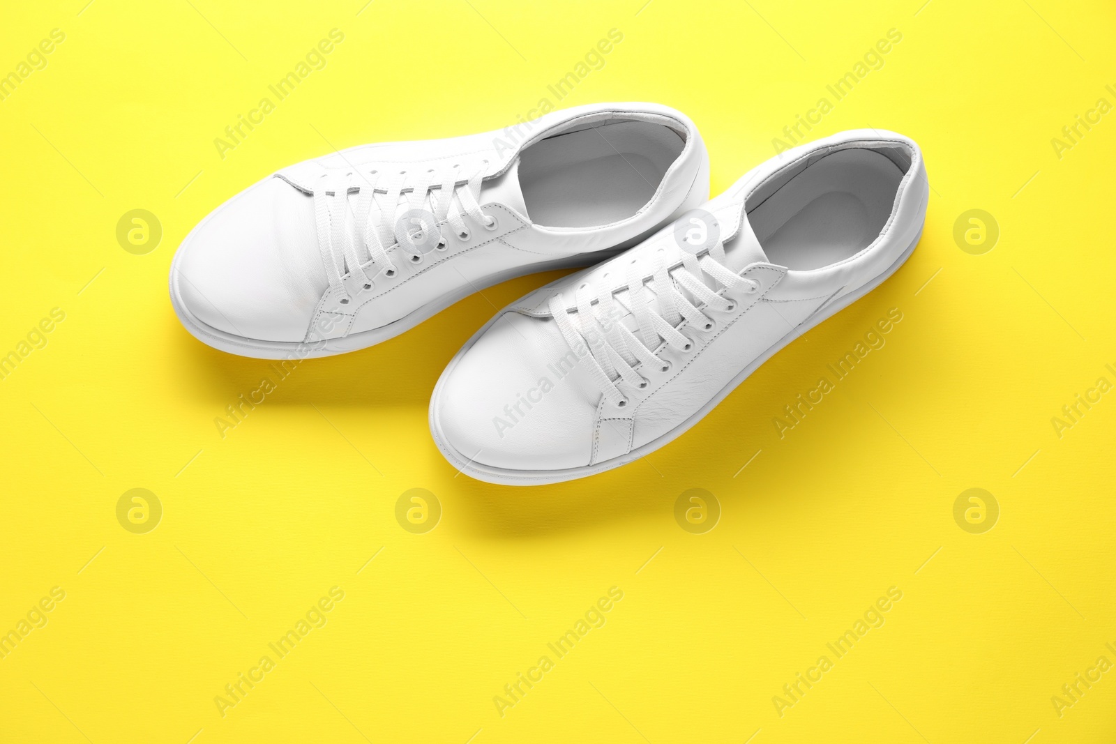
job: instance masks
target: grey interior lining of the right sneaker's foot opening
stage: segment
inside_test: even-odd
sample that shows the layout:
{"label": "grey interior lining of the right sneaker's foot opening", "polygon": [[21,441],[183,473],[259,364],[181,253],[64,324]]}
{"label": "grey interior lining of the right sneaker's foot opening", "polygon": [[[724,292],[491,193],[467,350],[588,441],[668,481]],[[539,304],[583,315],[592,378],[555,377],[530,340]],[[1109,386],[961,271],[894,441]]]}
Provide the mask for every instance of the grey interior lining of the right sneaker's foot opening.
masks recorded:
{"label": "grey interior lining of the right sneaker's foot opening", "polygon": [[910,167],[899,146],[822,152],[761,184],[748,199],[748,220],[772,263],[820,269],[879,236]]}

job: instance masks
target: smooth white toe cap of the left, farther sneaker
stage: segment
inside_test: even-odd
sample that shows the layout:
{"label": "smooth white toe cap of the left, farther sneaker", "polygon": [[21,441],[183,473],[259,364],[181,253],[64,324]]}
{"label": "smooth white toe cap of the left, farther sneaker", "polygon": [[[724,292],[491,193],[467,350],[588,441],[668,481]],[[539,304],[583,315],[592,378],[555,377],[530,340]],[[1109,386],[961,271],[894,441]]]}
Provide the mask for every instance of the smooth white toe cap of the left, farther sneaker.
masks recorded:
{"label": "smooth white toe cap of the left, farther sneaker", "polygon": [[232,336],[301,341],[328,282],[312,197],[268,178],[186,236],[172,268],[180,311]]}

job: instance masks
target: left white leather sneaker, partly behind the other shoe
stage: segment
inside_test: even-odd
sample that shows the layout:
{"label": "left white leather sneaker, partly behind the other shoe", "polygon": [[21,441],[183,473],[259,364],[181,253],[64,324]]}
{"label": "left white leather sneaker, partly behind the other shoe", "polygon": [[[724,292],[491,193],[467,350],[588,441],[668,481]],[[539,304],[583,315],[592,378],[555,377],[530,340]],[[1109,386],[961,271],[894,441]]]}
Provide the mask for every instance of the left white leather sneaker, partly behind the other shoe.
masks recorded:
{"label": "left white leather sneaker, partly behind the other shoe", "polygon": [[655,104],[363,145],[283,168],[202,220],[174,257],[171,300],[224,351],[341,354],[490,284],[596,263],[708,197],[696,127]]}

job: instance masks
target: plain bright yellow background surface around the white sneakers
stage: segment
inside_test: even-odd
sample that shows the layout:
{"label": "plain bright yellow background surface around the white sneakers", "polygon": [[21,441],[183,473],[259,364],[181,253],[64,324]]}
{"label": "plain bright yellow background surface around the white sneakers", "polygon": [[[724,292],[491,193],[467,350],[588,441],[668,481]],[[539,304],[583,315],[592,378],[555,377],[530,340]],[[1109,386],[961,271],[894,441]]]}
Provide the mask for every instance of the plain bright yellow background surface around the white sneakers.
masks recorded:
{"label": "plain bright yellow background surface around the white sneakers", "polygon": [[[1116,103],[1110,4],[85,3],[8,3],[0,26],[0,74],[66,33],[0,102],[0,354],[66,312],[0,380],[0,631],[66,591],[0,659],[0,741],[1113,741],[1116,671],[1060,717],[1050,699],[1116,663],[1116,394],[1060,438],[1050,422],[1116,383],[1116,113],[1061,158],[1050,142]],[[222,160],[213,139],[333,28],[327,66]],[[686,112],[714,194],[897,29],[809,136],[918,141],[913,258],[687,434],[588,480],[479,483],[427,432],[445,363],[552,273],[307,361],[222,438],[214,417],[271,374],[175,319],[186,232],[334,147],[510,124],[613,28],[562,105]],[[144,255],[115,236],[134,209],[163,226]],[[1000,226],[979,255],[953,239],[971,209]],[[886,346],[780,439],[782,406],[889,308]],[[163,505],[146,534],[116,519],[134,487]],[[442,505],[425,534],[394,516],[413,487]],[[1000,506],[983,534],[953,518],[970,487]],[[705,534],[674,520],[689,489],[721,504]],[[334,586],[328,624],[222,717],[214,696]],[[607,624],[501,717],[493,696],[613,586]],[[780,717],[772,696],[892,586],[886,624]]]}

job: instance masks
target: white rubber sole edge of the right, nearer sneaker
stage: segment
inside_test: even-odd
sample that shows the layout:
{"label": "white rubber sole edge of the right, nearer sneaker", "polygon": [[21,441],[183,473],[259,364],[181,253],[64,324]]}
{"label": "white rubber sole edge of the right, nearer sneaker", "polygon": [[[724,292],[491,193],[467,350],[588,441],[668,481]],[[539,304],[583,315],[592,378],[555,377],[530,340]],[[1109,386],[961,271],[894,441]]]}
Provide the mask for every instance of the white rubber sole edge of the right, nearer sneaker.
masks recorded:
{"label": "white rubber sole edge of the right, nearer sneaker", "polygon": [[[502,316],[507,308],[498,312],[491,320],[484,323],[484,327],[477,331],[472,338],[461,348],[460,351],[450,360],[446,365],[445,370],[442,376],[437,379],[437,385],[434,386],[434,394],[431,396],[430,400],[430,432],[434,437],[434,444],[441,451],[442,455],[450,462],[451,465],[456,467],[460,472],[477,479],[478,481],[484,481],[485,483],[496,483],[498,485],[546,485],[548,483],[561,483],[564,481],[574,481],[581,477],[587,477],[589,475],[596,475],[597,473],[604,473],[610,471],[614,467],[619,467],[626,465],[631,462],[639,460],[644,455],[658,450],[660,447],[666,445],[671,441],[684,434],[691,426],[700,422],[705,417],[709,412],[718,406],[730,393],[732,393],[737,387],[743,383],[753,371],[756,371],[760,365],[775,356],[780,349],[786,347],[788,344],[793,341],[796,338],[810,330],[818,323],[827,320],[828,318],[837,315],[848,306],[853,305],[864,296],[866,296],[872,290],[879,287],[884,281],[886,281],[893,273],[895,273],[901,265],[903,265],[911,254],[914,253],[915,247],[918,245],[918,241],[922,239],[922,228],[918,229],[918,234],[915,235],[914,241],[908,245],[903,254],[893,263],[886,271],[881,273],[878,277],[874,278],[872,281],[860,287],[856,291],[849,292],[844,297],[837,299],[830,305],[820,308],[812,316],[804,320],[793,330],[788,332],[781,339],[776,341],[768,348],[767,351],[757,357],[750,365],[744,367],[739,375],[737,375],[728,385],[725,385],[721,390],[714,395],[709,403],[706,403],[698,413],[690,416],[674,428],[672,428],[666,434],[652,439],[643,446],[636,447],[632,452],[620,455],[619,457],[614,457],[612,460],[606,460],[605,462],[597,463],[595,465],[583,465],[580,467],[569,467],[565,470],[556,471],[519,471],[509,470],[504,467],[493,467],[491,465],[484,465],[474,462],[471,457],[463,455],[458,452],[453,445],[450,444],[445,435],[442,433],[441,425],[437,419],[437,410],[441,407],[439,405],[439,396],[444,389],[444,383],[453,371],[458,361],[465,355],[465,352],[472,348],[473,344],[479,339],[484,331],[489,329],[492,323],[494,323],[500,316]],[[510,306],[509,306],[510,307]],[[473,455],[475,457],[477,453]]]}

